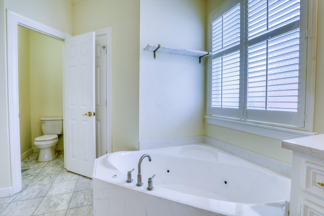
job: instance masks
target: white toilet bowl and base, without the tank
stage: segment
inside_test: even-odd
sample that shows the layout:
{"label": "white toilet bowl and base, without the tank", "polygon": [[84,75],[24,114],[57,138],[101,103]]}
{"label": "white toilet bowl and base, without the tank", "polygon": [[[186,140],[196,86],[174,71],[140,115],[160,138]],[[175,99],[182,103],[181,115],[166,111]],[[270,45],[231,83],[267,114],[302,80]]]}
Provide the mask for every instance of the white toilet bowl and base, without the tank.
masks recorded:
{"label": "white toilet bowl and base, without the tank", "polygon": [[55,135],[43,135],[36,137],[34,145],[39,149],[39,162],[46,162],[56,158],[57,154],[54,152],[54,148],[58,143],[58,136]]}

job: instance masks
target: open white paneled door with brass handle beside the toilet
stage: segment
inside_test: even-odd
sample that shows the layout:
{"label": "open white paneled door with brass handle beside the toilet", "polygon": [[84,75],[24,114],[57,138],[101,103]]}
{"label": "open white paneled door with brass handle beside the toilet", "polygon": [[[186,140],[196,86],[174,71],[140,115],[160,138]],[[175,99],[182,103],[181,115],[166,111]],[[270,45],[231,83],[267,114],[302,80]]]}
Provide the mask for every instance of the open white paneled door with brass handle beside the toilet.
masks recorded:
{"label": "open white paneled door with brass handle beside the toilet", "polygon": [[92,178],[96,159],[95,33],[64,42],[65,168]]}

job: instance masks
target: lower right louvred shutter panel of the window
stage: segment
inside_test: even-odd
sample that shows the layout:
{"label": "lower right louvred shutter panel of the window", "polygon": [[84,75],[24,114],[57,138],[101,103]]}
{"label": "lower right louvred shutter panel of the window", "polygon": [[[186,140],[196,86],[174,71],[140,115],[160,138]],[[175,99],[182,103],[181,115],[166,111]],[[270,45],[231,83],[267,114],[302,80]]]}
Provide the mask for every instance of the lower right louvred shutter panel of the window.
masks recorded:
{"label": "lower right louvred shutter panel of the window", "polygon": [[299,31],[248,48],[247,109],[297,112]]}

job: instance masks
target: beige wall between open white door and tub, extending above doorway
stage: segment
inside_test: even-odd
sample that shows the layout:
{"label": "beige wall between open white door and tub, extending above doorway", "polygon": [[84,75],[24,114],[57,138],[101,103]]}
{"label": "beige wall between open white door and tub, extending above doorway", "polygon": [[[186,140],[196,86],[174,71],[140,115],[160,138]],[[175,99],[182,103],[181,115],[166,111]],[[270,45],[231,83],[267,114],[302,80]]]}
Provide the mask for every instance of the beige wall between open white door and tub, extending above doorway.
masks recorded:
{"label": "beige wall between open white door and tub, extending above doorway", "polygon": [[73,35],[112,27],[113,151],[138,149],[139,8],[139,0],[85,0],[73,5]]}

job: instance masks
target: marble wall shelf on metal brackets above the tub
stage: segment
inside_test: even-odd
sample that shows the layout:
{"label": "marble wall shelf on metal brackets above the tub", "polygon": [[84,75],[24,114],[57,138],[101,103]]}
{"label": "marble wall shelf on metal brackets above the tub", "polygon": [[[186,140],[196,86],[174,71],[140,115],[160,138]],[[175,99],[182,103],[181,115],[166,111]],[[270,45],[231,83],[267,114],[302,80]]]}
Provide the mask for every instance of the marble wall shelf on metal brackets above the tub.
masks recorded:
{"label": "marble wall shelf on metal brackets above the tub", "polygon": [[158,52],[161,52],[161,53],[171,53],[171,54],[177,54],[177,55],[199,57],[199,63],[200,63],[200,59],[202,57],[210,55],[209,52],[205,52],[205,51],[174,49],[174,48],[168,48],[168,47],[161,47],[160,45],[156,46],[156,45],[150,45],[150,44],[147,45],[144,50],[153,52],[154,59],[155,59],[155,56],[156,56],[155,53],[158,51]]}

